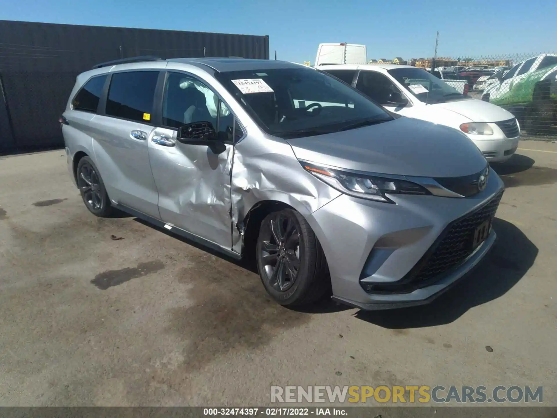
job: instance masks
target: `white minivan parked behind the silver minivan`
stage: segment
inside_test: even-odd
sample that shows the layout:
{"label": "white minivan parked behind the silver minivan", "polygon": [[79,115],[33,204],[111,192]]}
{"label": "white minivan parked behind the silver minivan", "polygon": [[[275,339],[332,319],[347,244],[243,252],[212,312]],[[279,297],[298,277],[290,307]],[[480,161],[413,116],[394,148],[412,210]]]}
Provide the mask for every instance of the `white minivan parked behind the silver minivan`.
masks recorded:
{"label": "white minivan parked behind the silver minivan", "polygon": [[394,113],[461,130],[488,161],[506,161],[518,147],[520,127],[512,113],[458,93],[425,70],[408,65],[328,65],[320,70]]}

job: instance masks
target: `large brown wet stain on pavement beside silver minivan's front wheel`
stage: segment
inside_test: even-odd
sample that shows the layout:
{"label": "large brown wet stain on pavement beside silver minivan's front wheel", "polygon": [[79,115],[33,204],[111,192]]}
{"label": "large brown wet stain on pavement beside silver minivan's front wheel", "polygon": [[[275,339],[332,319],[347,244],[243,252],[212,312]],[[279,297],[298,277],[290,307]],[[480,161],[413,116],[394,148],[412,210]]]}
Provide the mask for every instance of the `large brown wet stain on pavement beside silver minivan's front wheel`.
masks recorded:
{"label": "large brown wet stain on pavement beside silver minivan's front wheel", "polygon": [[177,274],[187,304],[169,310],[167,327],[187,341],[184,360],[172,376],[159,376],[165,384],[181,381],[184,373],[200,370],[229,352],[252,352],[285,329],[310,321],[311,314],[273,302],[252,271],[207,253],[190,261],[192,265]]}

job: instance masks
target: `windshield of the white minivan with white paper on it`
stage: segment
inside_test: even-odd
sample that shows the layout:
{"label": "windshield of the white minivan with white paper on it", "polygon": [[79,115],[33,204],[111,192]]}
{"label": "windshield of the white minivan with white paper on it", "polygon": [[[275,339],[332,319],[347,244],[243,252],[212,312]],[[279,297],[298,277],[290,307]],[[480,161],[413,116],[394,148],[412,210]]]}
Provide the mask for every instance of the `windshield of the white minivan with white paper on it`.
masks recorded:
{"label": "windshield of the white minivan with white paper on it", "polygon": [[443,80],[419,68],[397,68],[388,70],[388,72],[406,90],[412,93],[419,101],[423,101],[423,103],[433,104],[470,99],[469,96],[458,93],[456,89],[449,86]]}

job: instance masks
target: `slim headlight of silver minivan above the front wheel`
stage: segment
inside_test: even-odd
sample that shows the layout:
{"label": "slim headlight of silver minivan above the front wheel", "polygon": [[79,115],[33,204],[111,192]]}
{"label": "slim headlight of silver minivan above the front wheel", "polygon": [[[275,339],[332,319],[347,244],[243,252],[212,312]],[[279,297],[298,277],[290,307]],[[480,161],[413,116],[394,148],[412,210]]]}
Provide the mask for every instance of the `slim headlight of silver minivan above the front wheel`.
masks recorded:
{"label": "slim headlight of silver minivan above the front wheel", "polygon": [[425,187],[400,178],[368,176],[367,174],[315,166],[304,161],[300,161],[300,163],[315,177],[350,196],[394,203],[386,195],[431,195],[431,192]]}

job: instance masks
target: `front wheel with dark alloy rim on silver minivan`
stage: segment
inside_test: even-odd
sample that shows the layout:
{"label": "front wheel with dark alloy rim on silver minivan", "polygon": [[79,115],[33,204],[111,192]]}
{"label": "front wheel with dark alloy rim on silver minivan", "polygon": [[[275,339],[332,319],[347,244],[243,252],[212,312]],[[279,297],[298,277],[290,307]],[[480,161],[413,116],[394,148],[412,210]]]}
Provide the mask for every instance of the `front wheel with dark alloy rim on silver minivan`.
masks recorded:
{"label": "front wheel with dark alloy rim on silver minivan", "polygon": [[307,305],[329,290],[323,249],[309,223],[295,210],[284,209],[265,217],[256,252],[263,286],[277,303]]}

